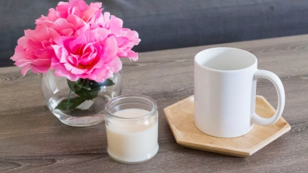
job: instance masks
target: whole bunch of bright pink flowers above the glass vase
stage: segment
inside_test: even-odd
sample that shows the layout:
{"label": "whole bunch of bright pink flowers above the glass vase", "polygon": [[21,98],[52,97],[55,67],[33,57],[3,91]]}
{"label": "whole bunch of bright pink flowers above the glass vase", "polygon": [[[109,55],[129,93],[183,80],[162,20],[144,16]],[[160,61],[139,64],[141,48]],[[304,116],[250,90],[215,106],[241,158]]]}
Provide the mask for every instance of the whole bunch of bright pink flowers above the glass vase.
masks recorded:
{"label": "whole bunch of bright pink flowers above the glass vase", "polygon": [[55,70],[55,76],[71,81],[79,78],[104,81],[122,68],[119,57],[136,61],[131,51],[139,44],[136,31],[123,28],[123,21],[109,12],[102,14],[101,3],[87,5],[69,0],[51,8],[36,20],[36,29],[26,30],[11,57],[22,74]]}

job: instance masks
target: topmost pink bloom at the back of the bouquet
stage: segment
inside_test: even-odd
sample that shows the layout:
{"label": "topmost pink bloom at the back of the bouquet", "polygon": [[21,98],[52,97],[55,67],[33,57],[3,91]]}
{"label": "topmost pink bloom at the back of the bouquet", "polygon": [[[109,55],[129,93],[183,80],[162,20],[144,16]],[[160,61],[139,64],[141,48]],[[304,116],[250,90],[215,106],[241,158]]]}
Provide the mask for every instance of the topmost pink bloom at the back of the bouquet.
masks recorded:
{"label": "topmost pink bloom at the back of the bouquet", "polygon": [[47,16],[36,20],[36,25],[47,25],[61,36],[74,36],[75,32],[88,25],[94,16],[101,14],[101,3],[87,5],[83,0],[60,2],[55,9],[51,8]]}

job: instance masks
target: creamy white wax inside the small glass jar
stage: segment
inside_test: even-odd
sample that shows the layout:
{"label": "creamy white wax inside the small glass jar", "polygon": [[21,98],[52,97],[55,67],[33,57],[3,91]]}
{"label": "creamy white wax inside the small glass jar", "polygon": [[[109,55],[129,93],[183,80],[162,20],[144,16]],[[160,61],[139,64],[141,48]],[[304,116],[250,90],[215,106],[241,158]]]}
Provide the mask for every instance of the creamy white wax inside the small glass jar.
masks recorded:
{"label": "creamy white wax inside the small glass jar", "polygon": [[[144,109],[123,109],[115,116],[136,118],[149,114]],[[159,148],[157,143],[157,120],[109,120],[107,131],[107,151],[110,157],[118,161],[138,162],[153,157]]]}

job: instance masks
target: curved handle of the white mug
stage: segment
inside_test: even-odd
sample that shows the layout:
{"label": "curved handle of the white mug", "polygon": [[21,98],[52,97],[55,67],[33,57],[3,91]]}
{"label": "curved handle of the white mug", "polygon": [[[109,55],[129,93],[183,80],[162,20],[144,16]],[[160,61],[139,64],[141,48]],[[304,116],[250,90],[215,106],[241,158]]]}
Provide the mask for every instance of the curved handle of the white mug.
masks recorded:
{"label": "curved handle of the white mug", "polygon": [[283,112],[283,108],[285,107],[285,89],[283,88],[283,84],[279,77],[277,77],[277,75],[275,75],[273,72],[268,70],[257,70],[253,76],[253,80],[257,80],[258,78],[268,79],[274,84],[278,94],[278,107],[276,113],[271,118],[261,118],[261,116],[258,116],[256,113],[253,114],[253,124],[265,126],[272,125],[277,122],[277,120],[279,120]]}

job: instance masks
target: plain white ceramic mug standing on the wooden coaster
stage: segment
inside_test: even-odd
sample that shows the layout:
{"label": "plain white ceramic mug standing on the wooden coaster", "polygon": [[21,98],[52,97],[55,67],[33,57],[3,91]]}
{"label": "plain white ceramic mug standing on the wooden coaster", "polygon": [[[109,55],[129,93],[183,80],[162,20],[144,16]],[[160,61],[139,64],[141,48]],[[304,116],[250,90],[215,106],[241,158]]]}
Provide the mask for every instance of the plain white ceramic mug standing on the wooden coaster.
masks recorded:
{"label": "plain white ceramic mug standing on the wooden coaster", "polygon": [[[258,78],[274,84],[278,108],[272,118],[255,114]],[[257,69],[257,58],[241,49],[217,47],[194,57],[194,120],[196,127],[215,137],[238,137],[253,124],[271,125],[285,106],[285,90],[277,75]]]}

